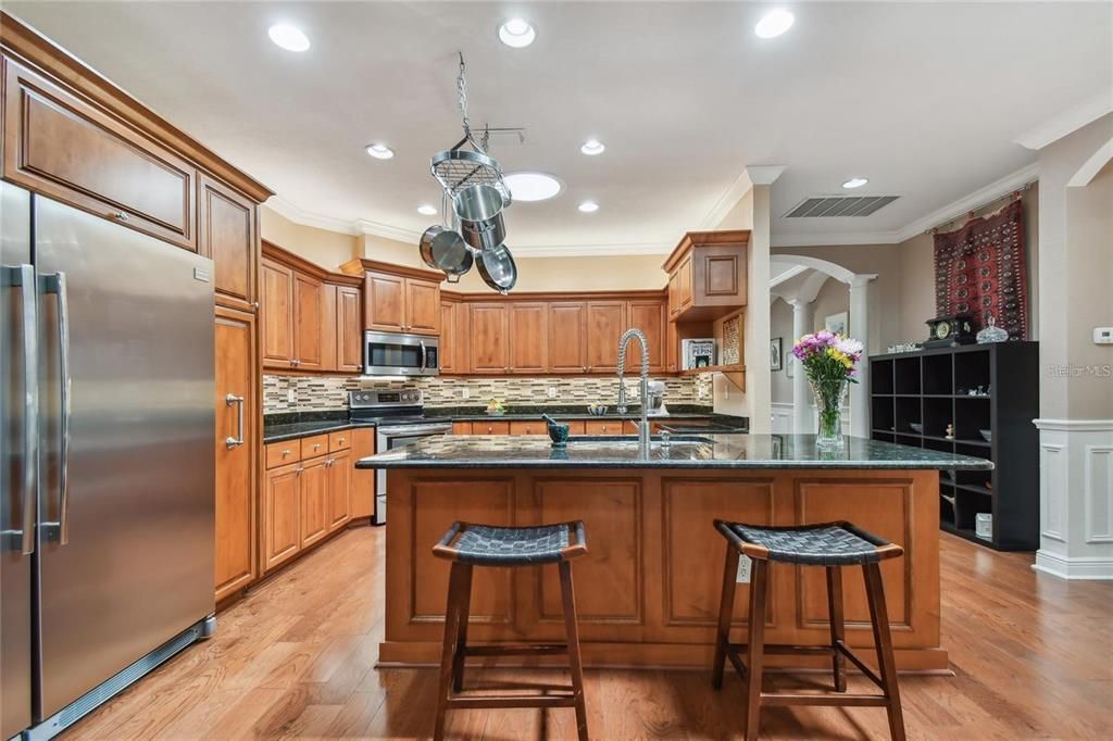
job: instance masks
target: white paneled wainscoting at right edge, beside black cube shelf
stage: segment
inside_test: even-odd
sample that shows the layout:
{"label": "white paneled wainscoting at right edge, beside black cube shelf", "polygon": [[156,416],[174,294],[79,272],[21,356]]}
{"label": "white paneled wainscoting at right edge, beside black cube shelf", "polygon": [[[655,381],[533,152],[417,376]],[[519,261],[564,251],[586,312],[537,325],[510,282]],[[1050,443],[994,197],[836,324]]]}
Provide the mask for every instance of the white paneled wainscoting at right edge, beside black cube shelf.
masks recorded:
{"label": "white paneled wainscoting at right edge, beside black cube shelf", "polygon": [[1036,419],[1040,551],[1033,567],[1113,580],[1113,419]]}

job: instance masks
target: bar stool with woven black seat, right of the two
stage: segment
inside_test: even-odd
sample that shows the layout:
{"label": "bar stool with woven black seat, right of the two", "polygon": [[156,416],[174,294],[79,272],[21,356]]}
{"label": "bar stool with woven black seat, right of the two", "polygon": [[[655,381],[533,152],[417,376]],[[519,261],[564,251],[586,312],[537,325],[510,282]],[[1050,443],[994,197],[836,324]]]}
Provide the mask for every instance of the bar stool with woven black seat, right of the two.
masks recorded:
{"label": "bar stool with woven black seat, right of the two", "polygon": [[[895,543],[855,527],[848,522],[829,522],[796,527],[769,527],[715,521],[715,527],[727,539],[727,563],[722,574],[722,601],[719,603],[719,631],[715,643],[712,685],[722,689],[722,670],[727,659],[746,681],[746,739],[758,738],[761,705],[873,705],[884,707],[889,714],[889,735],[904,741],[904,717],[897,689],[893,636],[885,607],[879,562],[895,559],[904,549]],[[749,639],[747,643],[730,642],[730,613],[735,604],[738,556],[754,560],[750,572]],[[794,646],[765,644],[766,597],[769,589],[769,562],[826,566],[827,606],[830,613],[830,645]],[[846,644],[843,626],[841,566],[860,565],[866,577],[866,597],[877,646],[880,674],[874,672]],[[746,661],[741,652],[746,651]],[[784,694],[761,691],[765,654],[829,655],[835,675],[835,692],[825,694]],[[849,659],[861,670],[881,694],[847,694],[846,663]]]}

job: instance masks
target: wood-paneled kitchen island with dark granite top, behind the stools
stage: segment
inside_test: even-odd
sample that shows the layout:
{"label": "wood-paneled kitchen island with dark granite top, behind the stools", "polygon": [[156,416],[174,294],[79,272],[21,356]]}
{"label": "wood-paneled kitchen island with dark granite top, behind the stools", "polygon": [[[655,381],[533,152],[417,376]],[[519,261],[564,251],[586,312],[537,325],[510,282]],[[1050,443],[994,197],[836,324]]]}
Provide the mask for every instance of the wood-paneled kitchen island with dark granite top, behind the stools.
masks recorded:
{"label": "wood-paneled kitchen island with dark granite top, behind the stools", "polygon": [[[427,438],[356,466],[387,471],[383,665],[440,659],[449,564],[431,547],[454,521],[583,520],[589,554],[574,573],[587,665],[707,669],[726,547],[711,524],[719,517],[775,525],[848,520],[903,545],[904,557],[881,566],[897,664],[944,672],[939,471],[992,464],[864,438],[820,453],[810,435],[672,436],[648,451],[622,437],[573,437],[554,449],[545,436],[473,435]],[[848,641],[868,646],[865,590],[853,570],[844,594]],[[739,639],[747,597],[740,584]],[[774,564],[769,601],[767,641],[829,641],[821,569]],[[476,570],[470,640],[559,641],[561,615],[555,569]],[[778,659],[786,658],[770,662]]]}

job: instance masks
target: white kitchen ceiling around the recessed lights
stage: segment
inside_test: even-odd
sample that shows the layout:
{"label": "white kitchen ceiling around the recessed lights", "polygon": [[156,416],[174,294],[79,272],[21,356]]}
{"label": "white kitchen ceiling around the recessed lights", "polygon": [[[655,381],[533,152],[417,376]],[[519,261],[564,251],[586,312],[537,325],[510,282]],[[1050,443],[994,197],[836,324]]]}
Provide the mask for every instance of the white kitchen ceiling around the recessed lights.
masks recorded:
{"label": "white kitchen ceiling around the recessed lights", "polygon": [[[440,205],[429,157],[460,136],[456,50],[473,124],[505,169],[565,191],[508,213],[512,247],[671,247],[747,165],[784,165],[775,244],[893,233],[1035,160],[1014,140],[1113,90],[1113,4],[737,2],[6,2],[47,36],[275,189],[305,215],[408,237]],[[495,39],[511,14],[536,42]],[[274,46],[286,20],[313,47]],[[599,157],[580,154],[598,137]],[[370,141],[392,160],[363,154]],[[899,195],[866,218],[779,218],[807,196]],[[601,208],[577,211],[581,200]]]}

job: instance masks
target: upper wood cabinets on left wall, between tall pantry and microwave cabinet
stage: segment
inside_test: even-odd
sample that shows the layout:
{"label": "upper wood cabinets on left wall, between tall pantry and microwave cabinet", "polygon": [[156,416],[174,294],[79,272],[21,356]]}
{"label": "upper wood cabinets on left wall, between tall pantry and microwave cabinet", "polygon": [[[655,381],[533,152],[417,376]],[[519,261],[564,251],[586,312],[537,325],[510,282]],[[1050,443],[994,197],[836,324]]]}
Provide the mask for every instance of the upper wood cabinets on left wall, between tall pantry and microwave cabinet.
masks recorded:
{"label": "upper wood cabinets on left wall, between tall pantry and microwave cabinet", "polygon": [[359,280],[328,273],[270,243],[263,245],[263,365],[359,373]]}

